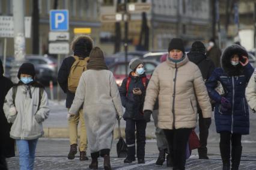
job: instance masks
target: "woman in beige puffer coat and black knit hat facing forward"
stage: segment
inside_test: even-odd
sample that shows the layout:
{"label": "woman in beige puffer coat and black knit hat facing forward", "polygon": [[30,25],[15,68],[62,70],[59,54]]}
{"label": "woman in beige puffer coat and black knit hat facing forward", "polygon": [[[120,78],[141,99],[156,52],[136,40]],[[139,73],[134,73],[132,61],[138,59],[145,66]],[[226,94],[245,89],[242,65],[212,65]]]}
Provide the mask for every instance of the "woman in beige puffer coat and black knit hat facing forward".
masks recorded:
{"label": "woman in beige puffer coat and black knit hat facing forward", "polygon": [[143,110],[145,116],[151,114],[158,97],[157,126],[165,132],[173,168],[184,169],[187,141],[197,124],[197,100],[204,118],[211,118],[212,106],[199,68],[184,53],[183,41],[173,38],[168,52],[148,83]]}

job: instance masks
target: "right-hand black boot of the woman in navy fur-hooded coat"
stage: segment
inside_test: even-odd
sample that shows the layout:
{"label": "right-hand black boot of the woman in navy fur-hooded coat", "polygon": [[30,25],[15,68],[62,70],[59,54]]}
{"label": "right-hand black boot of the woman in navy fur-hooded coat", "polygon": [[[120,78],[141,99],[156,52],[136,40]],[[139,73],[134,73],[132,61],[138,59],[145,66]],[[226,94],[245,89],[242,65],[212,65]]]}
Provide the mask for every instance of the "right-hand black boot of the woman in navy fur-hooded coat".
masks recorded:
{"label": "right-hand black boot of the woman in navy fur-hooded coat", "polygon": [[242,146],[231,147],[231,170],[238,170],[242,154]]}

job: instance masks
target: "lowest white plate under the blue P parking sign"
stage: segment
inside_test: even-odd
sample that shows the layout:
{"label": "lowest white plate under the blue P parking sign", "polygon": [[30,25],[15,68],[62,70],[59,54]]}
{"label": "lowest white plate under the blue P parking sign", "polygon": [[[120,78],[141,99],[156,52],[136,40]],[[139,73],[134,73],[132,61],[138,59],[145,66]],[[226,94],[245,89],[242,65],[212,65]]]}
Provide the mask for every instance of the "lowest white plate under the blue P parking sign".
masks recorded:
{"label": "lowest white plate under the blue P parking sign", "polygon": [[50,54],[68,54],[69,43],[49,43]]}

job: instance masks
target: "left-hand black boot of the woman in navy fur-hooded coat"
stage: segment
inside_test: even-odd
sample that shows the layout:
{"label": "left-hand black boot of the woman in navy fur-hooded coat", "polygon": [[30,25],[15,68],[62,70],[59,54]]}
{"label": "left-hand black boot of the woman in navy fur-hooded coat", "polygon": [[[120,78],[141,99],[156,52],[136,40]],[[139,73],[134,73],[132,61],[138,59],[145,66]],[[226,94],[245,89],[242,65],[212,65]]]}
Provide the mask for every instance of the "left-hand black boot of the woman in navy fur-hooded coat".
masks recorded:
{"label": "left-hand black boot of the woman in navy fur-hooded coat", "polygon": [[230,145],[219,144],[219,149],[221,150],[222,170],[230,170]]}

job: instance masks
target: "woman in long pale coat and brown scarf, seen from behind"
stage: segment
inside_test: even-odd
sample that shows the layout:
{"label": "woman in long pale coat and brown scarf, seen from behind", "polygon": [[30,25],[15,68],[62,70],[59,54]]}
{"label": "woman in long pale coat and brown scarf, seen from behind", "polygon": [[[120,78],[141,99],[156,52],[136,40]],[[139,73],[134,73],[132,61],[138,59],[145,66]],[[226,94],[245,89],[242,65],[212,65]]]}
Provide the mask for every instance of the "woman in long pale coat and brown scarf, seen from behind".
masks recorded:
{"label": "woman in long pale coat and brown scarf, seen from behind", "polygon": [[77,114],[81,106],[87,124],[88,145],[92,158],[89,168],[97,169],[97,158],[102,156],[104,168],[111,169],[109,153],[113,131],[116,118],[123,115],[123,108],[117,83],[112,72],[106,67],[103,52],[99,47],[91,50],[87,71],[82,73],[79,80],[69,111],[70,116]]}

